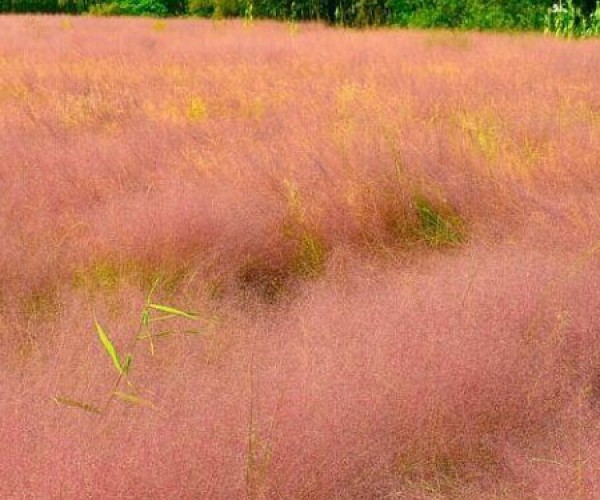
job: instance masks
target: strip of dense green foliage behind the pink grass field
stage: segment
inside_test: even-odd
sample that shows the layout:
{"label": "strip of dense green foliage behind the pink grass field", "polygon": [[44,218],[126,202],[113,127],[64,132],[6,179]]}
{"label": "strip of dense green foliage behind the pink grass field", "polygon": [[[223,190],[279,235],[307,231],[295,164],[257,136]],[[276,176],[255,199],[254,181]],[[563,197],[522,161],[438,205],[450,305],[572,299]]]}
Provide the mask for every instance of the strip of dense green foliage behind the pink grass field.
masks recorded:
{"label": "strip of dense green foliage behind the pink grass field", "polygon": [[[595,0],[0,0],[0,12],[324,20],[350,26],[564,31],[600,23]],[[575,29],[575,28],[578,29]],[[592,29],[591,31],[594,31]],[[574,33],[572,33],[574,34]],[[578,33],[582,34],[582,33]]]}

